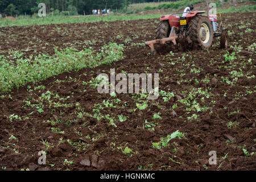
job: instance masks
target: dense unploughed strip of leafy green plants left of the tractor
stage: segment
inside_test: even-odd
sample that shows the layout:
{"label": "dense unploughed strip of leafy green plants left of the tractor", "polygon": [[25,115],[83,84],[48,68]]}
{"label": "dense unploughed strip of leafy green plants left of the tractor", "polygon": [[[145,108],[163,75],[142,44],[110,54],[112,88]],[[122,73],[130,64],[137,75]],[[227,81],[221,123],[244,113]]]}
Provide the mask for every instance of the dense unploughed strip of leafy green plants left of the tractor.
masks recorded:
{"label": "dense unploughed strip of leafy green plants left of the tractor", "polygon": [[124,58],[122,51],[122,44],[109,43],[98,53],[92,48],[85,48],[80,52],[75,48],[65,48],[56,50],[53,56],[38,55],[34,60],[22,58],[19,53],[14,55],[15,61],[0,56],[0,93],[7,93],[28,82],[43,81],[64,72],[113,63]]}

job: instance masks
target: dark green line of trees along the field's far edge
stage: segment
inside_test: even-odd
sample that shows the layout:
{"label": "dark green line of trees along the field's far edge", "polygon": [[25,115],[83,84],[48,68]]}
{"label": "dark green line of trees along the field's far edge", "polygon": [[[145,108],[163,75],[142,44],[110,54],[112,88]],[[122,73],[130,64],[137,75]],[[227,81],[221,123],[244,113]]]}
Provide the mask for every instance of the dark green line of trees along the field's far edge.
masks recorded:
{"label": "dark green line of trees along the field's far edge", "polygon": [[92,14],[92,10],[123,10],[131,3],[169,2],[177,0],[1,0],[0,14],[32,15],[40,9],[39,3],[46,4],[47,13]]}

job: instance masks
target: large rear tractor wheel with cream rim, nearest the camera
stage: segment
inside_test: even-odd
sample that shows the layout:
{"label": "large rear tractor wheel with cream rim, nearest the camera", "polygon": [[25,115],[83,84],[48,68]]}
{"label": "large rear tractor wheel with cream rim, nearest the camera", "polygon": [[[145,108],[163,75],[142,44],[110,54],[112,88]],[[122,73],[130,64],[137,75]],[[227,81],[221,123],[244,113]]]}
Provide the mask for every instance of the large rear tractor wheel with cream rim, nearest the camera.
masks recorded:
{"label": "large rear tractor wheel with cream rim, nearest the camera", "polygon": [[207,16],[197,15],[191,19],[187,32],[195,49],[210,48],[213,42],[213,28]]}

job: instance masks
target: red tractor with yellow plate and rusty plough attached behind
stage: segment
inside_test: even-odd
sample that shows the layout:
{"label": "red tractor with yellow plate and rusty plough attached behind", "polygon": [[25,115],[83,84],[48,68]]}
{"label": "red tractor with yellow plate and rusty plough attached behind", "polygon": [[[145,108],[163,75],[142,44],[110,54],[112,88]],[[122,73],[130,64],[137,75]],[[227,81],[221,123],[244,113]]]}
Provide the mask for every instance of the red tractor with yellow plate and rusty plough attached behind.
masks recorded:
{"label": "red tractor with yellow plate and rusty plough attached behind", "polygon": [[179,40],[185,40],[195,49],[209,48],[213,38],[221,36],[221,48],[228,47],[228,32],[222,28],[221,14],[209,15],[209,9],[207,15],[201,15],[204,13],[205,11],[190,11],[186,17],[179,16],[183,13],[162,15],[156,31],[156,40],[146,42],[146,46],[155,53],[156,43],[172,42],[176,45]]}

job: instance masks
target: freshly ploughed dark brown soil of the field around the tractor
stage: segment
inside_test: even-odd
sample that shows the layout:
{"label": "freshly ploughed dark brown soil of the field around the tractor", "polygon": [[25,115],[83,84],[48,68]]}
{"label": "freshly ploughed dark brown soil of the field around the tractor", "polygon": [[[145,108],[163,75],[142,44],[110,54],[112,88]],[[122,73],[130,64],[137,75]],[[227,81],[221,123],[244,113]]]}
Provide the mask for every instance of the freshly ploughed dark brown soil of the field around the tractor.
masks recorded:
{"label": "freshly ploughed dark brown soil of the field around the tractor", "polygon": [[[230,43],[233,46],[238,43],[242,48],[240,52],[232,47],[220,49],[219,39],[216,39],[209,51],[173,51],[174,56],[171,56],[168,53],[171,49],[165,48],[164,54],[152,57],[149,48],[132,43],[154,39],[158,19],[0,28],[3,40],[0,53],[10,56],[10,60],[15,60],[11,51],[20,51],[29,57],[39,53],[53,55],[54,48],[82,50],[84,46],[91,46],[98,50],[109,42],[126,46],[126,58],[118,63],[63,73],[0,98],[0,170],[255,170],[256,155],[250,154],[256,152],[256,79],[238,77],[234,86],[222,81],[230,71],[240,71],[237,67],[243,61],[241,71],[250,73],[248,76],[256,75],[255,53],[247,49],[255,43],[254,13],[225,14],[224,17],[225,26],[234,31]],[[241,21],[247,22],[247,26],[239,28]],[[247,28],[253,31],[246,31]],[[234,51],[237,59],[232,64],[238,65],[231,69],[226,67],[230,66],[228,62],[222,61],[225,53]],[[251,64],[247,64],[250,59]],[[114,104],[117,107],[102,105],[104,109],[100,109],[104,117],[109,114],[115,118],[117,127],[109,125],[106,118],[98,121],[93,117],[97,114],[96,104],[114,98],[99,94],[89,81],[99,73],[109,73],[110,68],[115,68],[116,74],[163,70],[159,73],[159,89],[174,92],[175,97],[164,102],[161,96],[147,102],[146,109],[139,110],[136,105],[146,100],[133,94],[117,94],[120,100]],[[193,73],[192,68],[202,70]],[[203,81],[205,76],[209,81]],[[38,85],[45,88],[35,89]],[[209,109],[199,113],[188,111],[177,100],[186,97],[185,91],[198,88],[210,89],[209,98],[204,96],[204,101],[202,97],[197,98],[201,106],[209,106]],[[251,90],[253,92],[247,94]],[[47,91],[52,95],[44,100],[41,96]],[[42,113],[35,106],[39,103],[44,105]],[[60,106],[55,107],[56,104]],[[172,110],[174,104],[177,108]],[[162,120],[154,120],[155,113],[162,113]],[[121,114],[126,121],[118,121]],[[192,114],[198,115],[197,120],[187,119]],[[154,123],[154,130],[145,127],[146,121]],[[229,122],[239,122],[239,125],[228,128]],[[152,142],[159,142],[176,130],[185,133],[185,137],[172,139],[168,147],[152,147]],[[123,154],[119,147],[122,150],[129,147],[133,155]],[[42,150],[47,151],[47,164],[39,166],[38,152]],[[217,152],[217,165],[209,165],[210,151]],[[73,164],[65,163],[65,159]]]}

